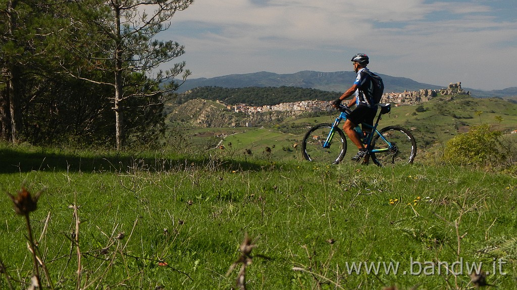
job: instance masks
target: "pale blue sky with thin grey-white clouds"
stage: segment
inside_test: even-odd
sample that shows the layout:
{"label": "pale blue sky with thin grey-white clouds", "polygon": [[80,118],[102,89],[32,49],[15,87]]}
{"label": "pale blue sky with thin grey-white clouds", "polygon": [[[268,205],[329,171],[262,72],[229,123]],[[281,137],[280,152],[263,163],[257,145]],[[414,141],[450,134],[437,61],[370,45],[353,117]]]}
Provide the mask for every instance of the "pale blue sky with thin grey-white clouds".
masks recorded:
{"label": "pale blue sky with thin grey-white clouds", "polygon": [[517,87],[516,0],[194,0],[164,40],[189,78],[370,70],[438,86]]}

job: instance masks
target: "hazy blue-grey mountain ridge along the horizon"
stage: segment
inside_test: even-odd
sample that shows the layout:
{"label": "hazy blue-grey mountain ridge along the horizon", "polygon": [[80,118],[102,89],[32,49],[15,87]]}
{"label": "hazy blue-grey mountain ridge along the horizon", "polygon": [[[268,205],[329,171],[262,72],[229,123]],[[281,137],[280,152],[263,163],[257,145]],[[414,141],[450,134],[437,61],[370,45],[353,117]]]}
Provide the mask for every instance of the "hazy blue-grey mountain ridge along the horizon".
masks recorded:
{"label": "hazy blue-grey mountain ridge along the horizon", "polygon": [[[378,74],[384,80],[385,92],[417,91],[420,89],[441,89],[445,86],[437,86],[416,82],[406,77],[396,77],[386,74]],[[313,88],[324,91],[344,92],[356,78],[353,71],[318,72],[300,71],[291,74],[277,74],[271,72],[256,72],[247,74],[230,74],[211,78],[187,79],[178,89],[178,93],[186,92],[197,87],[223,87],[223,88],[245,88],[245,87],[300,87]],[[451,82],[461,80],[452,79]],[[517,87],[504,90],[482,91],[464,88],[470,91],[473,96],[479,98],[492,96],[514,96],[517,95]]]}

